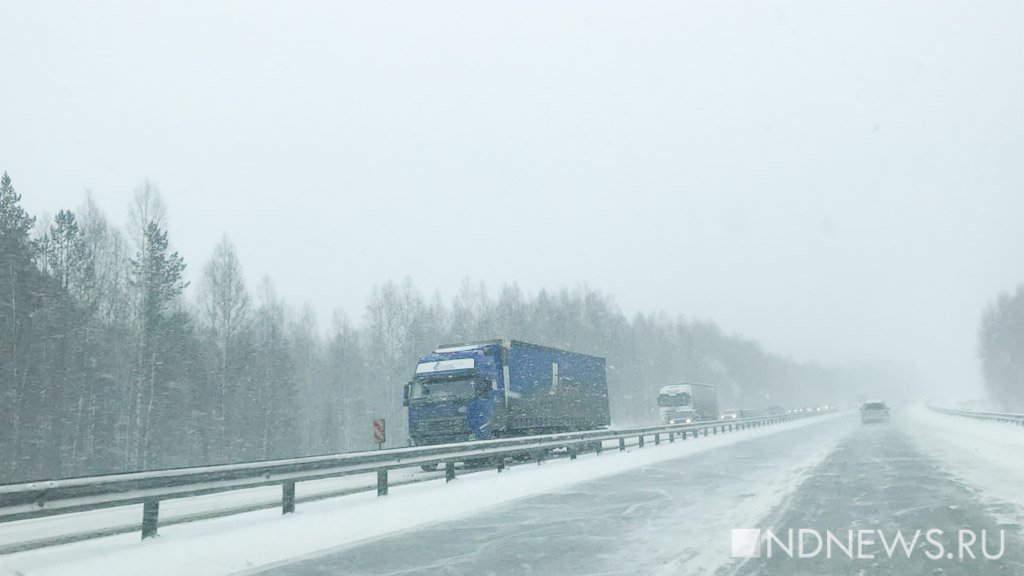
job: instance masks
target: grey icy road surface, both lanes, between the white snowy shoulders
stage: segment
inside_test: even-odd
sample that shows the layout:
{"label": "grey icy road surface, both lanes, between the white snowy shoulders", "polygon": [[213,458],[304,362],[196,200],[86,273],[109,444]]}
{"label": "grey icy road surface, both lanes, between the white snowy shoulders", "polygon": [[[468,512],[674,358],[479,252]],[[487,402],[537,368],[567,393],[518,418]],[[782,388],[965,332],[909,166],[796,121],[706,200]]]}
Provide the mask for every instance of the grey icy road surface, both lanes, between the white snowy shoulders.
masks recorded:
{"label": "grey icy road surface, both lanes, between the white snowy shoulders", "polygon": [[[1000,526],[968,486],[942,471],[897,425],[861,425],[855,416],[752,439],[644,469],[578,484],[481,513],[392,534],[252,572],[329,575],[634,574],[1024,574],[1021,539]],[[744,512],[745,510],[745,512]],[[744,516],[745,515],[745,516]],[[932,560],[924,536],[909,558],[888,558],[876,541],[850,559],[834,548],[790,559],[732,558],[731,529],[811,529],[839,534],[1002,529],[998,560]],[[877,540],[877,537],[876,537]],[[784,539],[783,539],[783,543]],[[808,544],[813,544],[809,540]],[[868,542],[870,544],[870,542]],[[955,550],[955,539],[948,549]],[[813,551],[809,545],[807,551]],[[945,550],[943,550],[945,553]],[[794,552],[796,554],[796,550]],[[966,556],[966,554],[965,554]]]}

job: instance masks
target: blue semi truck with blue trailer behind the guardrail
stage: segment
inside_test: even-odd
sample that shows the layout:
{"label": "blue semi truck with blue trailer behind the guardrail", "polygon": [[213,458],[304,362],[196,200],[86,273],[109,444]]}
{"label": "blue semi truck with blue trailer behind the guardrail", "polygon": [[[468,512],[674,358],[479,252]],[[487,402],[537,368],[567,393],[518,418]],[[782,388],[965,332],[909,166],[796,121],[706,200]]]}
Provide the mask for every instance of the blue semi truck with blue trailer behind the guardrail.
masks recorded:
{"label": "blue semi truck with blue trailer behind the guardrail", "polygon": [[403,403],[416,446],[609,423],[603,358],[517,340],[444,345],[420,358]]}

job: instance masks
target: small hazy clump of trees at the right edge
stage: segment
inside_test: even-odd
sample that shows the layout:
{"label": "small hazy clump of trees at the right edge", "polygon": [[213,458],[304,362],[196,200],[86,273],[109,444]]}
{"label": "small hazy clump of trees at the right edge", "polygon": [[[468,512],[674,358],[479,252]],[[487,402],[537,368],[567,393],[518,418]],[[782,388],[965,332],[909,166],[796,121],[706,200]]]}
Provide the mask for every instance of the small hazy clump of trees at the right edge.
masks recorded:
{"label": "small hazy clump of trees at the right edge", "polygon": [[985,308],[978,357],[989,399],[1006,410],[1024,410],[1024,285]]}

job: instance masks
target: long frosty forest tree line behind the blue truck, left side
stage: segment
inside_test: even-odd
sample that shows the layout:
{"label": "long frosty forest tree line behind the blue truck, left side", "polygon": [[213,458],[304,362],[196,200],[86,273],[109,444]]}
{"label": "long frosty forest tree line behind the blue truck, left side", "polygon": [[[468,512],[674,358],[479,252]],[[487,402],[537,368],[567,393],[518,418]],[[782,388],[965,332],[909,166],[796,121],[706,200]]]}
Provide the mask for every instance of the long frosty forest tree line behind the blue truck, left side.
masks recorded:
{"label": "long frosty forest tree line behind the blue truck, left side", "polygon": [[[196,273],[157,188],[123,227],[90,196],[42,221],[0,181],[0,483],[369,449],[407,434],[401,386],[441,343],[515,338],[607,359],[614,423],[657,418],[667,383],[719,385],[723,408],[835,403],[844,376],[710,321],[627,318],[587,287],[527,294],[464,281],[373,288],[326,329],[269,279],[249,286],[224,237]],[[195,279],[189,286],[186,277]]]}

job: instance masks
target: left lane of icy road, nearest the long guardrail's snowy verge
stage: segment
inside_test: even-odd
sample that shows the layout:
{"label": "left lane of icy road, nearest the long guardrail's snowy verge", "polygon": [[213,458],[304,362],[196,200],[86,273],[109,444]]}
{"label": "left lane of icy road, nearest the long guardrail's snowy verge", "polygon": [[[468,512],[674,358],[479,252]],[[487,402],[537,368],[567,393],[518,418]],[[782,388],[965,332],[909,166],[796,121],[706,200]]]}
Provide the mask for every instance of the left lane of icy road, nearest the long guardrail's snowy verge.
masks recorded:
{"label": "left lane of icy road, nearest the long guardrail's snowy verge", "polygon": [[783,502],[859,426],[827,419],[250,573],[711,573],[736,564],[731,528]]}

